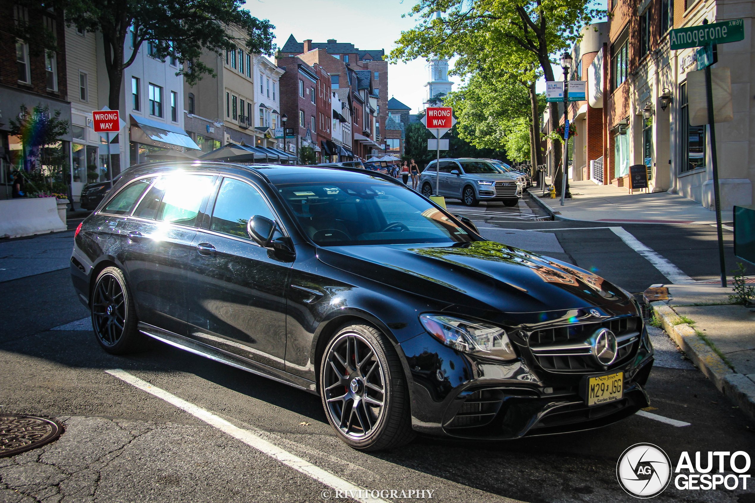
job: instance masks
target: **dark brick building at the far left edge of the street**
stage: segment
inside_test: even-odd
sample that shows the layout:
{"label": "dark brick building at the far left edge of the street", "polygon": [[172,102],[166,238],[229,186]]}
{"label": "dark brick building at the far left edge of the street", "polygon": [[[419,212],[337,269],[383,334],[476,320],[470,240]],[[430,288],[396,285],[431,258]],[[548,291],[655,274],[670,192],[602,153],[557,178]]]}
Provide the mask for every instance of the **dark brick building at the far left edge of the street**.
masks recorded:
{"label": "dark brick building at the far left edge of the street", "polygon": [[[29,23],[48,29],[57,38],[57,51],[45,51],[36,41],[15,41],[9,32],[17,23]],[[0,124],[0,199],[11,198],[11,170],[33,169],[33,155],[25,152],[21,139],[11,135],[9,118],[17,118],[20,107],[29,111],[35,106],[48,106],[50,113],[60,111],[60,119],[71,122],[66,78],[66,37],[63,11],[30,11],[29,8],[3,2],[0,7],[0,92],[2,92],[2,123]],[[11,43],[8,43],[8,40]],[[61,138],[63,149],[70,155],[71,133]],[[32,165],[34,164],[34,165]]]}

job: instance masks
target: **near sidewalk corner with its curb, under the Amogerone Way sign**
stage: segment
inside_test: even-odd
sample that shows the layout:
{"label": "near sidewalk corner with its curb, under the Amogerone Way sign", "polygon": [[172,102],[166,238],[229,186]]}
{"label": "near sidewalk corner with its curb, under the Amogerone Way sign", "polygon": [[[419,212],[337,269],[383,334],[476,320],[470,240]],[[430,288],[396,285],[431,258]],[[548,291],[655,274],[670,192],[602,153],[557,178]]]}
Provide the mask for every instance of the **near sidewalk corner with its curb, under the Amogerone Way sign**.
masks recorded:
{"label": "near sidewalk corner with its curb, under the Amogerone Way sign", "polygon": [[[755,283],[755,277],[747,283]],[[755,308],[729,301],[732,288],[695,283],[645,292],[661,326],[716,388],[755,420]]]}

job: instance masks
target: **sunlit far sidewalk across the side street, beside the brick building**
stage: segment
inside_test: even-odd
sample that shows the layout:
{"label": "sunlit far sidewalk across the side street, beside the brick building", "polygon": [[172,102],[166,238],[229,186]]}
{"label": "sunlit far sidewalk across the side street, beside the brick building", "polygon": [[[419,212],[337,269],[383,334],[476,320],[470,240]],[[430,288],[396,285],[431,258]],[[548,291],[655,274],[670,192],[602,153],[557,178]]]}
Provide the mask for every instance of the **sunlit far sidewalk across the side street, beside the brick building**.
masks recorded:
{"label": "sunlit far sidewalk across the side street, beside the brick building", "polygon": [[[548,182],[548,179],[546,179]],[[699,203],[668,192],[635,193],[612,185],[599,186],[594,182],[569,181],[572,199],[564,206],[559,198],[542,198],[543,189],[529,189],[532,198],[551,213],[556,220],[587,220],[590,222],[626,223],[716,223],[716,213]],[[730,212],[724,213],[724,221]]]}

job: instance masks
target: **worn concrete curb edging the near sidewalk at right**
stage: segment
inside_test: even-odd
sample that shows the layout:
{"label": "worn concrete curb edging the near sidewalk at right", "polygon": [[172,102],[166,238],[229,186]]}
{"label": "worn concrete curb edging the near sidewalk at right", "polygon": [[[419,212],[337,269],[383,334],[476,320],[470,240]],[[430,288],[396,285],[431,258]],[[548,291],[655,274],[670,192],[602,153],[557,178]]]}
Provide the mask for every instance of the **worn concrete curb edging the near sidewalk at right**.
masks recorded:
{"label": "worn concrete curb edging the near sidewalk at right", "polygon": [[690,360],[713,382],[721,393],[729,397],[739,409],[755,421],[755,382],[744,374],[735,373],[689,324],[680,324],[679,315],[664,301],[650,303],[661,318],[666,333],[682,348]]}

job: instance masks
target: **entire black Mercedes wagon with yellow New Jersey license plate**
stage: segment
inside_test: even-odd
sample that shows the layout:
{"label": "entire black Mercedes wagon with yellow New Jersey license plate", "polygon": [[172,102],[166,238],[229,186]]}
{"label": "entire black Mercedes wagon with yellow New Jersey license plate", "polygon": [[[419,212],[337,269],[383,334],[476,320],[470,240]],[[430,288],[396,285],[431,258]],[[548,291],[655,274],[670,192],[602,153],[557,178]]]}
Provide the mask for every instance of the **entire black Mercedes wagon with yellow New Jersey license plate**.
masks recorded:
{"label": "entire black Mercedes wagon with yellow New Jersey license plate", "polygon": [[381,173],[134,167],[76,229],[71,273],[105,351],[149,336],[319,394],[356,449],[579,431],[649,403],[633,296]]}

